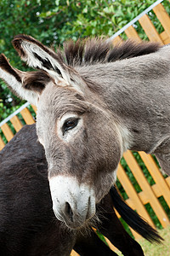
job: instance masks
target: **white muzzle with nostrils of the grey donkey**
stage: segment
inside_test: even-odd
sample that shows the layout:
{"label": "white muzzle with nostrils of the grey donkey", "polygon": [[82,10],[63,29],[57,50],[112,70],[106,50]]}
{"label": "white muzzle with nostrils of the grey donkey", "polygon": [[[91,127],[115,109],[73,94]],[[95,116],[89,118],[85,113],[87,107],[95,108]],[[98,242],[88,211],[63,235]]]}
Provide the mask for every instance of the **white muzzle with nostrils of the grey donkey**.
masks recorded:
{"label": "white muzzle with nostrils of the grey donkey", "polygon": [[75,177],[49,178],[49,187],[56,218],[70,229],[79,229],[95,215],[95,193],[88,184]]}

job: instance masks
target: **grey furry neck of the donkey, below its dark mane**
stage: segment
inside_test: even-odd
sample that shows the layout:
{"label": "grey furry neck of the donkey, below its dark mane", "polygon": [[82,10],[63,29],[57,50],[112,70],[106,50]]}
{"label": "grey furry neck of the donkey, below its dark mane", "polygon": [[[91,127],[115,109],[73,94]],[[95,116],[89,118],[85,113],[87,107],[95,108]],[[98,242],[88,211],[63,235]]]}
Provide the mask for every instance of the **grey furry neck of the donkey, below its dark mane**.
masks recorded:
{"label": "grey furry neck of the donkey, below its dark mane", "polygon": [[167,134],[170,137],[170,65],[166,57],[156,57],[141,56],[80,70],[117,123],[129,131],[127,149],[146,153],[154,152]]}

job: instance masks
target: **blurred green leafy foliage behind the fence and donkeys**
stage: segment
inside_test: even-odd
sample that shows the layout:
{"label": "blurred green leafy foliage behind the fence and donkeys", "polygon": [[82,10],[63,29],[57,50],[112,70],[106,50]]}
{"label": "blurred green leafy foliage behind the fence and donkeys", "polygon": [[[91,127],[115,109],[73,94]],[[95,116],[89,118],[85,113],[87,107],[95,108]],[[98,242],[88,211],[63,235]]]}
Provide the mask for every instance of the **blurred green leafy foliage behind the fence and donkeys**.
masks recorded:
{"label": "blurred green leafy foliage behind the fence and donkeys", "polygon": [[[153,0],[1,0],[0,1],[0,53],[5,54],[12,66],[20,70],[28,70],[26,64],[20,61],[11,41],[15,35],[20,33],[29,34],[46,44],[57,47],[68,38],[84,38],[88,36],[111,37],[122,26],[133,20],[144,9],[148,8]],[[170,14],[170,3],[167,0],[162,2]],[[150,20],[160,33],[163,28],[157,20],[153,11],[149,13]],[[139,22],[135,23],[135,29],[140,38],[148,40]],[[126,39],[126,36],[124,36]],[[0,121],[6,118],[14,110],[20,108],[24,101],[14,96],[7,86],[0,81]],[[154,180],[150,176],[138,153],[133,153],[144,171],[145,177],[150,185]],[[132,172],[122,158],[122,166],[131,179],[137,192],[141,189],[133,177]],[[122,192],[124,199],[127,194],[117,181],[117,186]],[[163,198],[159,199],[166,212],[170,216],[169,208]],[[152,208],[146,206],[157,227],[161,227],[156,214]]]}

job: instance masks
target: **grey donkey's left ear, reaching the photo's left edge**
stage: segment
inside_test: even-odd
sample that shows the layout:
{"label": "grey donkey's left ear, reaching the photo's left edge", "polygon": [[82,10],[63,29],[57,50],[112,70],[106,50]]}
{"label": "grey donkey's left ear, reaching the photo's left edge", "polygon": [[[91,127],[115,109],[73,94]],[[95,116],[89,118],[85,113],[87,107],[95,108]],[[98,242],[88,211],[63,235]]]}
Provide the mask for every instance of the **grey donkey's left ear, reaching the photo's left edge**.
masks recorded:
{"label": "grey donkey's left ear, reaching the photo's left edge", "polygon": [[32,77],[34,74],[21,72],[12,67],[5,55],[0,55],[0,78],[8,84],[15,95],[37,105],[44,84],[42,83],[42,76],[40,81],[36,80],[36,84],[33,82],[35,79],[31,79]]}

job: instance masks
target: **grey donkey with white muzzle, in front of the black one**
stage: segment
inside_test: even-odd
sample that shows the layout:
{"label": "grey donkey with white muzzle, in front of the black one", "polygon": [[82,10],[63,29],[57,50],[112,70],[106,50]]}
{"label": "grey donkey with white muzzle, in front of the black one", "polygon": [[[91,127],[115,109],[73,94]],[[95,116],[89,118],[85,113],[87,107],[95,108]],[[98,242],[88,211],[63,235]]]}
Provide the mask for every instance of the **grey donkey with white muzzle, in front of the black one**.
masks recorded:
{"label": "grey donkey with white muzzle, in front of the black one", "polygon": [[35,72],[0,57],[0,77],[37,105],[55,216],[72,229],[95,214],[127,149],[170,165],[170,46],[104,39],[69,41],[57,53],[26,35],[13,40]]}

